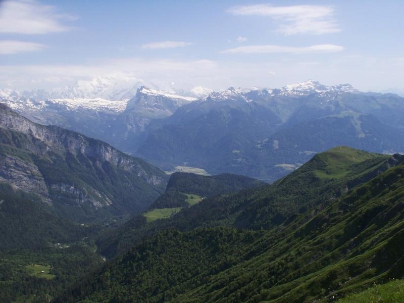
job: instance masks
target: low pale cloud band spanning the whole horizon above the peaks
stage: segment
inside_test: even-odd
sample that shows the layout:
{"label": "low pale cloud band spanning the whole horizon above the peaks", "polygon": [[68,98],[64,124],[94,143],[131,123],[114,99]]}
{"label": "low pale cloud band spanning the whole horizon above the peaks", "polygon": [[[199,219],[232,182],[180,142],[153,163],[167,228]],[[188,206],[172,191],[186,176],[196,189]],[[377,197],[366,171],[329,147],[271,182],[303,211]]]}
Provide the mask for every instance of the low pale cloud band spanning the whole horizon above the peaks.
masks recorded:
{"label": "low pale cloud band spanning the whole horizon above the peaks", "polygon": [[230,86],[279,88],[307,79],[326,85],[350,83],[362,91],[388,87],[404,89],[401,80],[404,78],[403,63],[397,64],[396,58],[341,54],[331,58],[312,56],[307,61],[300,56],[265,60],[257,57],[245,56],[246,60],[239,60],[237,56],[221,61],[123,58],[91,60],[82,65],[4,64],[0,65],[0,88],[56,88],[74,84],[77,80],[118,75],[120,78],[143,79],[165,90],[170,90],[167,83],[171,82],[176,83],[176,88],[203,86],[220,90]]}

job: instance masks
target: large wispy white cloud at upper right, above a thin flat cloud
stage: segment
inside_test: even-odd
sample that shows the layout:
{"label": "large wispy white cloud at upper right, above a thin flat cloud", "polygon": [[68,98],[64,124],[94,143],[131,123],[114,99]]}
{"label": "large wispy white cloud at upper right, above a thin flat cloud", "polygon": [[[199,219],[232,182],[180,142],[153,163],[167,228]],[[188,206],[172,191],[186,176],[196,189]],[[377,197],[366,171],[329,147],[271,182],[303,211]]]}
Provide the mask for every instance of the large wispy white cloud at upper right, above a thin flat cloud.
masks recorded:
{"label": "large wispy white cloud at upper right, above a thin flat cloud", "polygon": [[297,5],[276,7],[268,4],[238,6],[228,13],[242,16],[266,16],[278,21],[276,30],[284,35],[325,34],[339,32],[333,18],[334,9],[329,6]]}

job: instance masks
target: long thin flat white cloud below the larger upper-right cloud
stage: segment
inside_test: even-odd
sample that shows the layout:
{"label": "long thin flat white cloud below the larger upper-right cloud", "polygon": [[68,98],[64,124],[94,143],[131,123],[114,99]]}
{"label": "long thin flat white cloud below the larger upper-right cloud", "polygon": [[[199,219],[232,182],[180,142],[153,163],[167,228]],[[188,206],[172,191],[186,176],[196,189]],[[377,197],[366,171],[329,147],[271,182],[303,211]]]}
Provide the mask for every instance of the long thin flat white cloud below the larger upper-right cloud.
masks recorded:
{"label": "long thin flat white cloud below the larger upper-right cloud", "polygon": [[317,44],[311,46],[281,46],[281,45],[249,45],[226,49],[221,53],[231,54],[310,54],[310,53],[335,53],[342,52],[345,48],[334,44]]}

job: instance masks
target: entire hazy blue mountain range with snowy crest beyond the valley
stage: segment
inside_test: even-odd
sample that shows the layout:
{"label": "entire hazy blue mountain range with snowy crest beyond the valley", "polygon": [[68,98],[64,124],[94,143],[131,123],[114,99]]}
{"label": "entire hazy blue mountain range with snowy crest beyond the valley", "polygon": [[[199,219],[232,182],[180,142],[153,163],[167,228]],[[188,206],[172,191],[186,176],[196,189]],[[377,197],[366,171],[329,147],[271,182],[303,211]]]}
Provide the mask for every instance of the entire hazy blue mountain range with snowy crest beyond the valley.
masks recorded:
{"label": "entire hazy blue mountain range with snowy crest beyond the valley", "polygon": [[145,86],[131,99],[69,96],[76,97],[2,94],[3,102],[37,123],[106,141],[167,171],[189,166],[273,182],[335,145],[404,150],[403,98],[349,84],[229,88],[199,98]]}

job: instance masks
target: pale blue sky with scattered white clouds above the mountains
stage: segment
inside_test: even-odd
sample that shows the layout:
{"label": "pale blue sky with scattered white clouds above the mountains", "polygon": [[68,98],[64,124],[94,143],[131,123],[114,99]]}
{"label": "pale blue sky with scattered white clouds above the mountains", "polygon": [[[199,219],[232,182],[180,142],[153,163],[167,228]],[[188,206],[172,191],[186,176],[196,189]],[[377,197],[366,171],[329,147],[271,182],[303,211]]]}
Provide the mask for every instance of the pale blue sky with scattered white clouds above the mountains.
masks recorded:
{"label": "pale blue sky with scattered white clouds above the mountains", "polygon": [[404,93],[404,1],[0,1],[0,88],[308,79]]}

